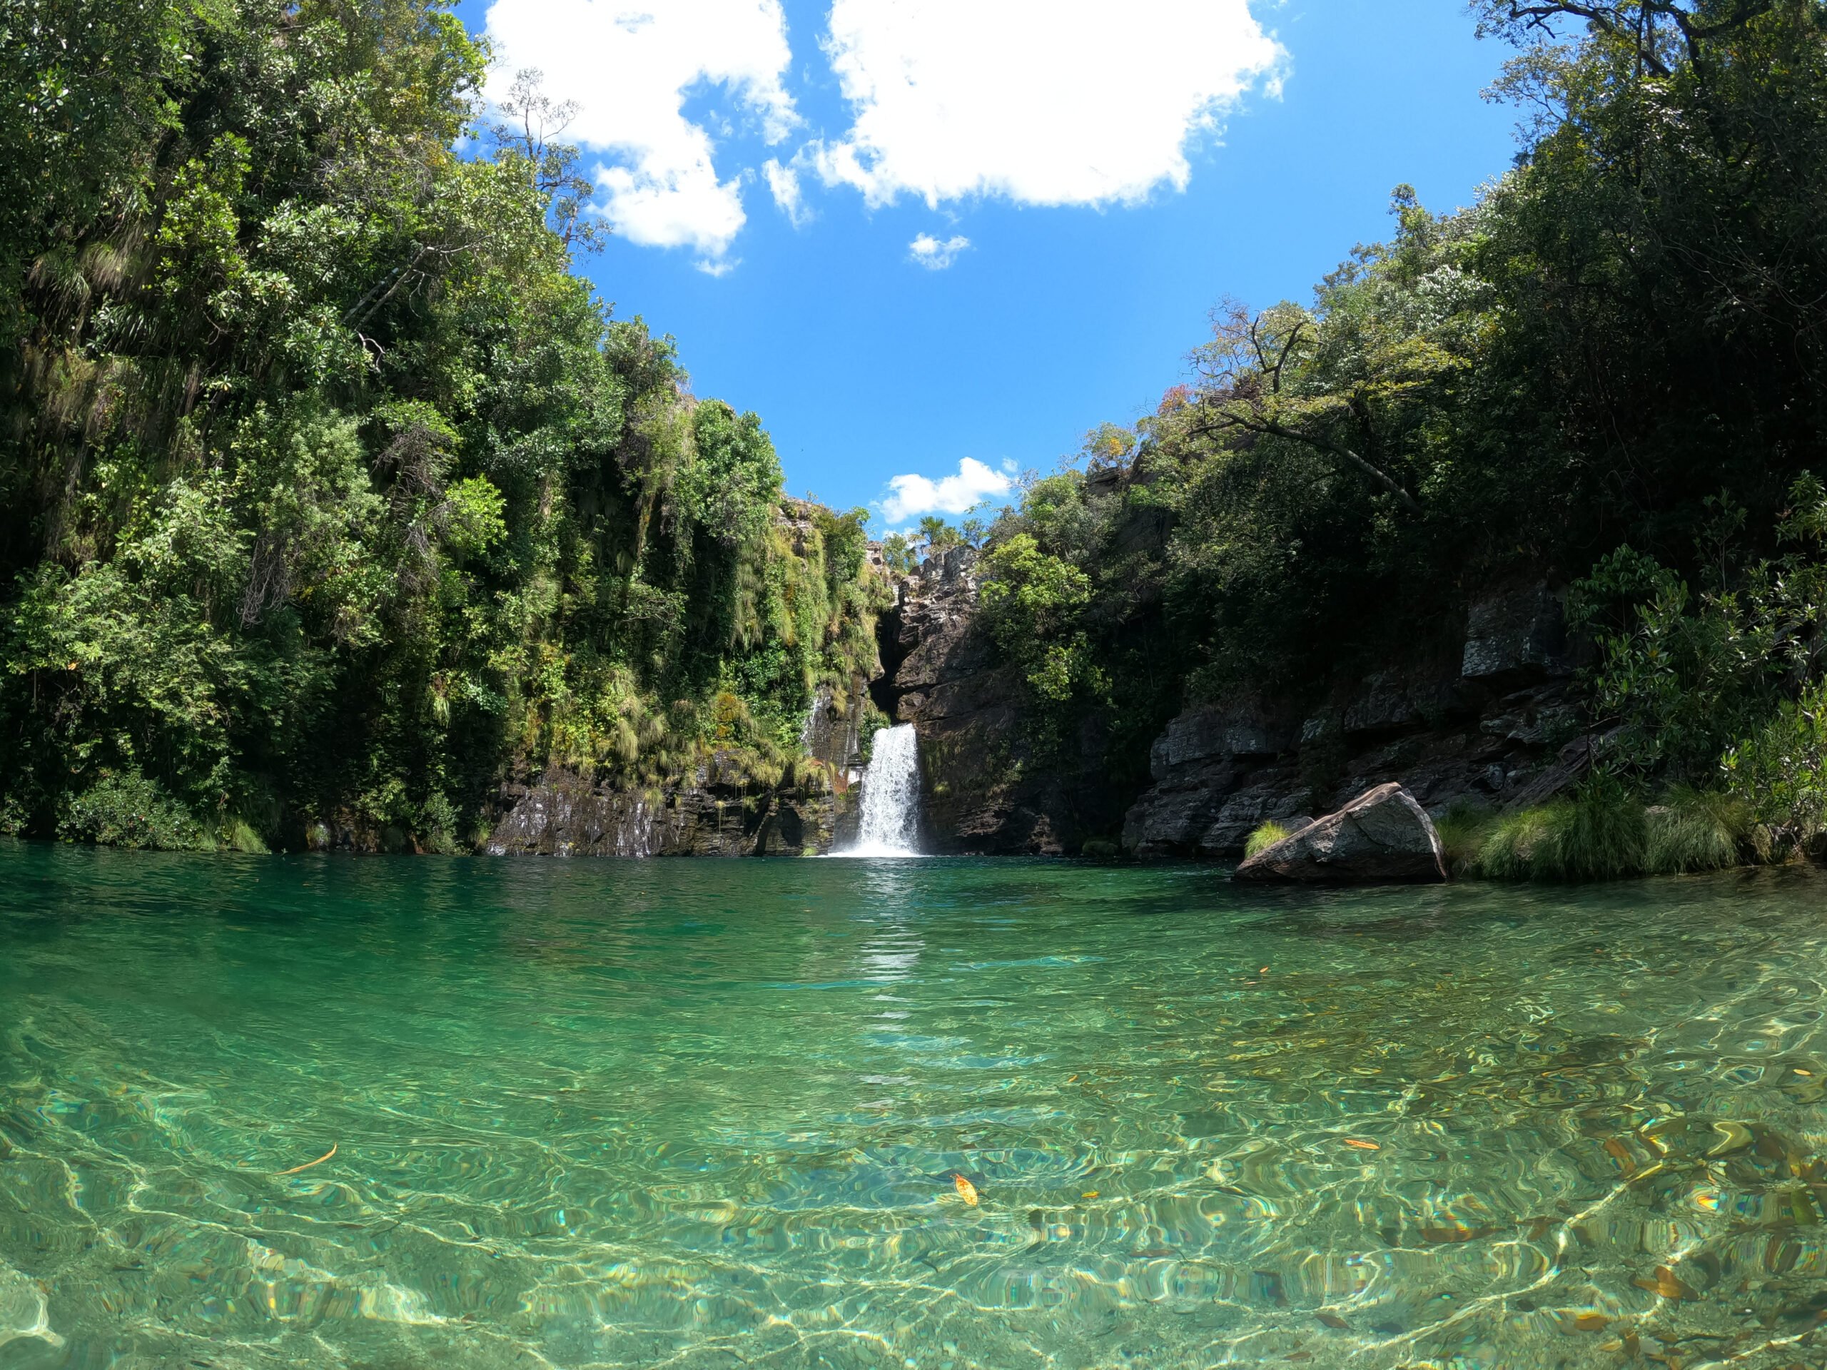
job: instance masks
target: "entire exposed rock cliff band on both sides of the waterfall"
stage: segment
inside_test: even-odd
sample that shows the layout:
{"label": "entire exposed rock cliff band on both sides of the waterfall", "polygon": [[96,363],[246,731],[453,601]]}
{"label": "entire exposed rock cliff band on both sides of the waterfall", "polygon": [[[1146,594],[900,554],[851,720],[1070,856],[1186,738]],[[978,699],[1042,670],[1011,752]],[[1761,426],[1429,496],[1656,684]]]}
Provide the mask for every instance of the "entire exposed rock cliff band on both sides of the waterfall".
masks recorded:
{"label": "entire exposed rock cliff band on both sides of the waterfall", "polygon": [[[1074,855],[1122,833],[1142,859],[1235,859],[1262,822],[1297,827],[1378,785],[1429,813],[1520,807],[1589,758],[1560,595],[1511,585],[1462,610],[1451,648],[1303,696],[1241,690],[1188,709],[1156,738],[1142,793],[1113,785],[1096,720],[1063,749],[1029,742],[1025,685],[976,619],[977,553],[952,548],[897,583],[879,621],[882,674],[820,690],[793,784],[749,784],[722,754],[652,791],[554,769],[502,789],[491,853],[800,855],[840,846],[862,778],[864,690],[919,734],[923,846],[934,853]],[[1111,848],[1114,849],[1114,848]]]}

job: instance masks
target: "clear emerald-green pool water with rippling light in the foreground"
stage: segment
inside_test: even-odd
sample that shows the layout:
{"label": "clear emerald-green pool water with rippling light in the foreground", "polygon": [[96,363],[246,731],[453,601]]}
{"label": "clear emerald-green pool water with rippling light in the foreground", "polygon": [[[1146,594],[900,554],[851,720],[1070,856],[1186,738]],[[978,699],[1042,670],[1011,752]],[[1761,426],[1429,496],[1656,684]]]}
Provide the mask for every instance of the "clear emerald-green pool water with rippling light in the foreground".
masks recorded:
{"label": "clear emerald-green pool water with rippling light in the foreground", "polygon": [[1823,895],[0,844],[0,1366],[1818,1365]]}

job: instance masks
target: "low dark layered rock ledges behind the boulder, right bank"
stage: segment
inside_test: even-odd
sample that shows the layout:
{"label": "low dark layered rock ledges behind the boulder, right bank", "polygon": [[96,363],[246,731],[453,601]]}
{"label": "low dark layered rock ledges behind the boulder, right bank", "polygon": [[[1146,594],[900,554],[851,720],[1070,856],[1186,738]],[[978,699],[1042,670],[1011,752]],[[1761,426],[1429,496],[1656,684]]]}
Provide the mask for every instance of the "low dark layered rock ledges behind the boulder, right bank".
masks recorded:
{"label": "low dark layered rock ledges behind the boulder, right bank", "polygon": [[1297,827],[1392,782],[1431,813],[1540,804],[1589,758],[1577,652],[1558,595],[1509,586],[1471,606],[1452,656],[1392,665],[1317,707],[1246,694],[1189,709],[1155,743],[1155,785],[1124,818],[1124,848],[1231,859],[1270,818]]}

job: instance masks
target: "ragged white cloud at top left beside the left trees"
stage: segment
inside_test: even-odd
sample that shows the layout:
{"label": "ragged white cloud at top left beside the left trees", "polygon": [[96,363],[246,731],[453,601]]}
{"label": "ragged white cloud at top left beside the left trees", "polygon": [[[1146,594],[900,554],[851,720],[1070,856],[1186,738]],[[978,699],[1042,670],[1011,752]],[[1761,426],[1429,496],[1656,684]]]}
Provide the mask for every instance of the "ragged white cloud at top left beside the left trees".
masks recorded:
{"label": "ragged white cloud at top left beside the left trees", "polygon": [[577,102],[563,137],[605,157],[596,179],[616,234],[723,265],[745,221],[744,174],[718,175],[711,130],[683,104],[722,86],[731,108],[720,133],[753,124],[780,142],[793,132],[780,0],[495,0],[488,37],[499,58],[491,97],[535,68],[546,95]]}

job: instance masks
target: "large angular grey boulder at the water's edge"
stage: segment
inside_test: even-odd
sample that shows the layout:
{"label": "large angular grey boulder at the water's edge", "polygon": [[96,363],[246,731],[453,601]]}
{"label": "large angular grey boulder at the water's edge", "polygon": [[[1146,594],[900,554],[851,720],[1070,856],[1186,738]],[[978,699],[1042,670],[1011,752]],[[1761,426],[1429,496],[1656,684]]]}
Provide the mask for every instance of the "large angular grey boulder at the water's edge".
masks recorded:
{"label": "large angular grey boulder at the water's edge", "polygon": [[1237,868],[1237,879],[1390,884],[1445,880],[1447,868],[1427,809],[1407,789],[1389,784],[1250,857]]}

